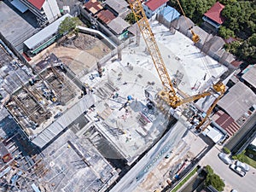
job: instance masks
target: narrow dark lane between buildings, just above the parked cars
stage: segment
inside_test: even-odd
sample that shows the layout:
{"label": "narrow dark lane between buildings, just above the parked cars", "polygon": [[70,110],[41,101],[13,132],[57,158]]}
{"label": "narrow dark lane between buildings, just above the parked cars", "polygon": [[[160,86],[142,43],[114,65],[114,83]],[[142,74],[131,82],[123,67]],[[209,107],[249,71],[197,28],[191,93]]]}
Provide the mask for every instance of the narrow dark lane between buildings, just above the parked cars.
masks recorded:
{"label": "narrow dark lane between buildings, just above the parked cars", "polygon": [[231,151],[236,149],[236,145],[241,142],[241,139],[247,135],[247,132],[256,125],[256,113],[247,120],[247,122],[241,126],[240,131],[236,133],[234,137],[230,139],[230,142],[225,145],[225,147],[230,148]]}

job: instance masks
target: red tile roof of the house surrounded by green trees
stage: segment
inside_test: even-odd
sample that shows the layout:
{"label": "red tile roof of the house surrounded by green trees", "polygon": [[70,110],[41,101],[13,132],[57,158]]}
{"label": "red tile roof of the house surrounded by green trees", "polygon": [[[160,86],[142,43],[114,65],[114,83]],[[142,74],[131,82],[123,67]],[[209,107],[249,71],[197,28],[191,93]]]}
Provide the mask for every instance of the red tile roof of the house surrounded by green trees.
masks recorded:
{"label": "red tile roof of the house surrounded by green trees", "polygon": [[224,17],[221,15],[224,7],[223,4],[216,2],[204,15],[221,25],[224,22]]}

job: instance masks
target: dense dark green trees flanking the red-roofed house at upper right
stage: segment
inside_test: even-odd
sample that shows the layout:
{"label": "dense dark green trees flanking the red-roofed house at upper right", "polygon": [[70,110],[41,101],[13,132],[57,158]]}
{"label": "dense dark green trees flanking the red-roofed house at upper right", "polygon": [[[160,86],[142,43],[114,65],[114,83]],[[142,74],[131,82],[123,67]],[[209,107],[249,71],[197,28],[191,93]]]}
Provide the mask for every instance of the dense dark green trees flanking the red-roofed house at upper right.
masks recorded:
{"label": "dense dark green trees flanking the red-roofed house at upper right", "polygon": [[[225,5],[222,15],[225,20],[218,30],[218,35],[224,39],[236,38],[238,42],[227,44],[230,53],[239,59],[250,63],[256,62],[256,0],[219,0]],[[187,17],[200,25],[202,16],[212,7],[215,0],[180,0],[183,11]],[[177,0],[169,0],[169,4],[181,10]]]}

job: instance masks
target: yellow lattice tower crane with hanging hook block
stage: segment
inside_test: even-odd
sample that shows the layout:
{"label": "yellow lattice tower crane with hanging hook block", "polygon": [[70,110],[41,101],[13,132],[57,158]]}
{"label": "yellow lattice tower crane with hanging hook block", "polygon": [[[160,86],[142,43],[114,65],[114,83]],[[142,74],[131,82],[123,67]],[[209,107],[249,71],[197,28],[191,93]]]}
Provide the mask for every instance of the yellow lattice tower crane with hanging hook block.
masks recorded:
{"label": "yellow lattice tower crane with hanging hook block", "polygon": [[[160,77],[160,81],[164,87],[164,90],[160,91],[160,97],[167,102],[172,108],[177,108],[183,103],[193,102],[205,96],[211,96],[213,93],[220,93],[215,102],[212,103],[212,106],[207,110],[207,116],[212,112],[212,109],[217,104],[221,96],[224,95],[225,86],[223,83],[218,82],[212,86],[212,90],[205,91],[201,94],[195,96],[189,96],[187,98],[181,98],[177,96],[176,91],[173,88],[172,80],[167,73],[166,65],[163,61],[162,56],[160,55],[160,49],[156,44],[154,33],[151,30],[151,27],[148,23],[147,16],[143,10],[143,5],[141,0],[129,0],[131,11],[135,16],[137,21],[137,26],[140,29],[140,32],[143,35],[143,39],[147,45],[148,52],[151,55],[152,61],[154,62],[154,67]],[[179,4],[180,5],[180,4]],[[180,6],[181,7],[181,6]],[[196,43],[199,41],[199,37],[192,31],[192,40]],[[201,121],[200,125],[206,121],[207,116]]]}

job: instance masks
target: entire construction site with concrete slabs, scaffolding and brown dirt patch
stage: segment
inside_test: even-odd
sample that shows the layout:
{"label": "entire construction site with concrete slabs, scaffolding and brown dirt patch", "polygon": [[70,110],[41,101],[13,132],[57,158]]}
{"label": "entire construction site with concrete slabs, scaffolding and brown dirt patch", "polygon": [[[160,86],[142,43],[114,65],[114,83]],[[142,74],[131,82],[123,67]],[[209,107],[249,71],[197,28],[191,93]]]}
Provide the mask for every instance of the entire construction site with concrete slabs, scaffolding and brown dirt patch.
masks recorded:
{"label": "entire construction site with concrete slabs, scaffolding and brown dirt patch", "polygon": [[[142,25],[142,32],[152,29],[154,41],[145,32],[113,47],[80,31],[76,40],[54,44],[33,59],[31,74],[22,68],[26,75],[13,80],[18,85],[6,95],[7,110],[1,108],[1,122],[8,120],[1,124],[1,148],[9,155],[0,172],[5,189],[153,191],[157,186],[143,181],[166,154],[177,154],[169,166],[177,173],[207,148],[202,140],[189,146],[200,140],[189,130],[199,133],[198,125],[210,124],[200,123],[221,96],[213,85],[228,68],[158,20]],[[154,43],[162,61],[150,49]],[[0,57],[19,68],[0,48]],[[8,74],[2,61],[1,74]],[[164,179],[172,183],[174,173]]]}

